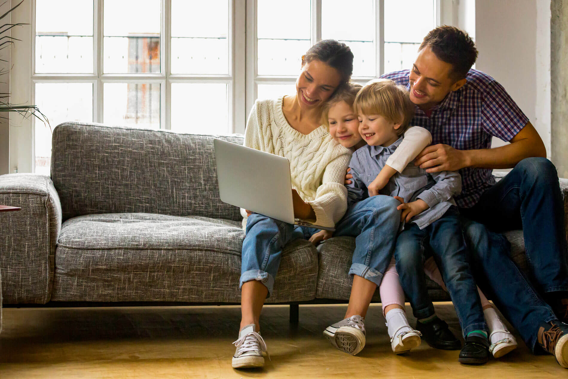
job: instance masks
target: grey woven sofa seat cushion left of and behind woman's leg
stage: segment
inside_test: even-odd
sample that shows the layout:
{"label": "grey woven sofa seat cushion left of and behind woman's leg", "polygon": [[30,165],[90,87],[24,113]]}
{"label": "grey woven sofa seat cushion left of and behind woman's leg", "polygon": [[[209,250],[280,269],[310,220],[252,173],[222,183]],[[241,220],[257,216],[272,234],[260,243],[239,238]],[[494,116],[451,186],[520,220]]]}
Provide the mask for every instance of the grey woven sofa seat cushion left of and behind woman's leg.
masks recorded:
{"label": "grey woven sofa seat cushion left of and behind woman's leg", "polygon": [[[63,223],[53,301],[240,302],[239,221],[148,213],[91,214]],[[269,302],[315,297],[317,251],[286,246]]]}

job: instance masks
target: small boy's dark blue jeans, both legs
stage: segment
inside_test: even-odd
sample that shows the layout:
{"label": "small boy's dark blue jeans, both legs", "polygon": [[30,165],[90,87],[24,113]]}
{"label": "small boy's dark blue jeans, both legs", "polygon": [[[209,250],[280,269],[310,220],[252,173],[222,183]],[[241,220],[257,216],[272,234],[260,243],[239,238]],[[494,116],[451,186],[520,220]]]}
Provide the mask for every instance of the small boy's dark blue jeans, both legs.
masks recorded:
{"label": "small boy's dark blue jeans, both legs", "polygon": [[423,266],[424,251],[428,246],[456,307],[463,336],[474,330],[487,331],[481,300],[470,270],[460,214],[455,206],[424,229],[415,223],[407,224],[396,240],[396,270],[414,316],[420,319],[434,314]]}

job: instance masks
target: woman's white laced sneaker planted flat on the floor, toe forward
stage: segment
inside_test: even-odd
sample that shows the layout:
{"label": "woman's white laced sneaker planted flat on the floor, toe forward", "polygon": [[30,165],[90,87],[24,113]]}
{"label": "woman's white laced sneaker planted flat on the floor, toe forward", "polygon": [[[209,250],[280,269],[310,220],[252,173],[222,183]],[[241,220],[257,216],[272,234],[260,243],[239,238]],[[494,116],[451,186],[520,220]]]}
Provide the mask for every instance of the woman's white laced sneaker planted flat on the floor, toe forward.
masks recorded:
{"label": "woman's white laced sneaker planted flat on the floor, toe forward", "polygon": [[233,368],[264,367],[262,352],[266,352],[266,343],[254,324],[244,326],[233,345],[237,347],[233,355]]}

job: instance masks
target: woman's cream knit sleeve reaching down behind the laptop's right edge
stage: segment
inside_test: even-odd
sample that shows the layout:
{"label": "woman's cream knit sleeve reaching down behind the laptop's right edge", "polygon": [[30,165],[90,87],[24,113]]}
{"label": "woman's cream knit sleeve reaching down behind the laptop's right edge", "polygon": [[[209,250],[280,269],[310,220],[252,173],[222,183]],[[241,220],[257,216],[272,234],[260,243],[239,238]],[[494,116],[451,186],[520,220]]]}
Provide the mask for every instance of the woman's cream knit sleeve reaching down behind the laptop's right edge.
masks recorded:
{"label": "woman's cream knit sleeve reaching down behind the laptop's right edge", "polygon": [[321,185],[316,190],[316,197],[307,202],[314,209],[318,225],[335,226],[347,210],[347,189],[344,181],[350,158],[350,153],[346,152],[325,166]]}

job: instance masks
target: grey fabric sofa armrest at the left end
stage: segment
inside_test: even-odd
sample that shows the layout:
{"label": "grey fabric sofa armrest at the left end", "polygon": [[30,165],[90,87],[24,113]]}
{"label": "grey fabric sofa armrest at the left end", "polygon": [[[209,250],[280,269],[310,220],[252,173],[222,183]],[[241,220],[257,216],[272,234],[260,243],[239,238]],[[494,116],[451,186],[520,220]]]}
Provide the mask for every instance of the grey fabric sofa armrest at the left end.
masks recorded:
{"label": "grey fabric sofa armrest at the left end", "polygon": [[0,204],[22,207],[0,213],[0,273],[4,303],[51,298],[61,203],[48,176],[0,176]]}

